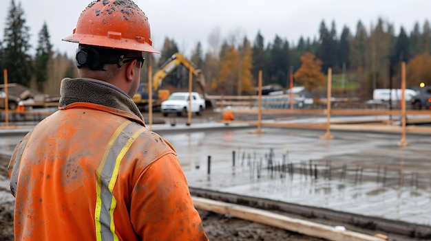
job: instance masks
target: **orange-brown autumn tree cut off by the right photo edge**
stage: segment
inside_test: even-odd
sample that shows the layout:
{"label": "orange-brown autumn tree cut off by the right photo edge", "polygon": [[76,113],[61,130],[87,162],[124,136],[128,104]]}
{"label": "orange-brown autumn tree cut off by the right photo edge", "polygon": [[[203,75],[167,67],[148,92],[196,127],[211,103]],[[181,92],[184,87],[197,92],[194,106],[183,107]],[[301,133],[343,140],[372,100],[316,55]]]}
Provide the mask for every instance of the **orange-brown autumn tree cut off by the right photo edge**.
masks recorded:
{"label": "orange-brown autumn tree cut off by the right photo edge", "polygon": [[[431,84],[431,56],[428,53],[416,56],[408,62],[406,77],[408,85],[412,87],[419,87],[421,82]],[[427,83],[428,81],[428,83]]]}

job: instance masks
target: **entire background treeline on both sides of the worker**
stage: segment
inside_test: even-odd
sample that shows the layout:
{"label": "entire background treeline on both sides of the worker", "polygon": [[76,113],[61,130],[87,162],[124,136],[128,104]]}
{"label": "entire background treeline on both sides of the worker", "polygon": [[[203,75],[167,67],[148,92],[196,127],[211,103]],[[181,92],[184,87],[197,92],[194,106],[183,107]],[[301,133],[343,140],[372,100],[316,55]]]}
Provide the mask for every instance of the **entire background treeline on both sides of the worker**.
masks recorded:
{"label": "entire background treeline on both sides of the worker", "polygon": [[[52,50],[46,23],[38,35],[36,54],[30,56],[29,31],[21,3],[17,5],[11,0],[4,37],[0,41],[0,67],[8,69],[9,82],[44,93],[58,93],[63,77],[76,77],[74,60]],[[207,51],[198,43],[187,57],[197,69],[202,69],[206,91],[211,94],[254,94],[260,70],[264,85],[288,88],[292,73],[295,85],[304,85],[313,91],[324,84],[322,74],[332,68],[335,93],[355,93],[362,97],[369,96],[376,88],[399,88],[401,62],[408,64],[407,87],[417,87],[419,82],[431,80],[428,21],[416,23],[411,32],[401,27],[399,34],[395,34],[392,23],[383,19],[377,19],[370,27],[358,21],[355,31],[344,26],[341,33],[337,33],[335,21],[330,26],[322,21],[318,38],[301,37],[297,43],[289,43],[277,35],[272,41],[266,41],[260,32],[253,40],[235,34],[222,38],[218,30],[211,32],[207,41]],[[172,54],[180,52],[171,38],[165,38],[159,50],[157,57],[146,57],[145,63],[151,65],[153,71]],[[141,74],[141,80],[147,82],[147,68],[144,67]],[[3,75],[0,80],[4,81]],[[187,84],[188,73],[184,68],[176,69],[164,80],[167,88],[186,89]]]}

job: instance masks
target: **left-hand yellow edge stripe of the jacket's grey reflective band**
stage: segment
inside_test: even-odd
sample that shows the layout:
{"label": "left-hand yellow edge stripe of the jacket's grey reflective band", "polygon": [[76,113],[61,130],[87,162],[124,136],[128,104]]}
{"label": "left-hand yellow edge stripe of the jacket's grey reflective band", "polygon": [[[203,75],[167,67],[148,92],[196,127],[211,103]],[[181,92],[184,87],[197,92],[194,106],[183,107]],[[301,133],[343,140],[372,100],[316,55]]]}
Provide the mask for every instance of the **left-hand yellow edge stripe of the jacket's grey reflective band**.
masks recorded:
{"label": "left-hand yellow edge stripe of the jacket's grey reflective band", "polygon": [[115,131],[114,135],[112,135],[111,139],[109,139],[109,143],[107,144],[107,147],[105,148],[105,152],[103,152],[103,156],[101,158],[101,161],[98,165],[96,176],[96,209],[94,211],[94,221],[96,225],[96,240],[101,241],[102,235],[101,235],[101,209],[102,209],[102,198],[101,198],[101,188],[102,188],[102,181],[101,181],[101,173],[103,170],[103,166],[105,165],[107,156],[109,154],[109,150],[111,150],[112,145],[114,144],[115,140],[118,138],[120,133],[124,130],[124,128],[130,123],[130,121],[123,122],[117,130]]}

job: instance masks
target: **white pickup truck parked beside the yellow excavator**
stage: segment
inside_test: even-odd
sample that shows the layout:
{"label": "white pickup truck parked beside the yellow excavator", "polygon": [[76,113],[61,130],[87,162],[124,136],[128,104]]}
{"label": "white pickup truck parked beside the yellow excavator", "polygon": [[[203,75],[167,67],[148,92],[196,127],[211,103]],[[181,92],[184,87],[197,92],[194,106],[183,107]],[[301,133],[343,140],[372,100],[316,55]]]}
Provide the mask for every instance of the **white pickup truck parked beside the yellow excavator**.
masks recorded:
{"label": "white pickup truck parked beside the yellow excavator", "polygon": [[[191,92],[191,113],[200,115],[205,109],[205,100],[196,92]],[[189,112],[189,92],[172,93],[167,100],[162,102],[163,116],[176,113],[178,116],[187,115]]]}

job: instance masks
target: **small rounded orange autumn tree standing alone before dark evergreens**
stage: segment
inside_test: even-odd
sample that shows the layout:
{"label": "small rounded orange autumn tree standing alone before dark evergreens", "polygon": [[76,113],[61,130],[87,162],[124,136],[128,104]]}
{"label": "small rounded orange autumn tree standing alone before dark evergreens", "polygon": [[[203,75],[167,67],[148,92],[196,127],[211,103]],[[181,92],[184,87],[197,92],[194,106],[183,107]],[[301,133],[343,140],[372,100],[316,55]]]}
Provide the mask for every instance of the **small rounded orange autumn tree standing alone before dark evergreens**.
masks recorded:
{"label": "small rounded orange autumn tree standing alone before dark evergreens", "polygon": [[322,60],[315,58],[314,54],[306,52],[301,57],[302,65],[295,72],[294,78],[298,82],[304,84],[307,91],[323,86],[325,84],[325,76],[322,73]]}

